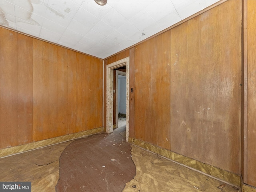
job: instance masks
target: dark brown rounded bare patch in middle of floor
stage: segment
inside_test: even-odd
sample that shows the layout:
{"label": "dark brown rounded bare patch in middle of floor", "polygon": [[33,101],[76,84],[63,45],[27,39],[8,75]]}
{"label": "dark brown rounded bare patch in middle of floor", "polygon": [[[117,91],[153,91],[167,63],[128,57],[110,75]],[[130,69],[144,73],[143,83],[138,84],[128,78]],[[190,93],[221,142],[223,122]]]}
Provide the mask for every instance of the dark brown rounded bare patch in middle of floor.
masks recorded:
{"label": "dark brown rounded bare patch in middle of floor", "polygon": [[60,157],[56,192],[120,192],[132,180],[136,168],[130,144],[116,129],[75,140]]}

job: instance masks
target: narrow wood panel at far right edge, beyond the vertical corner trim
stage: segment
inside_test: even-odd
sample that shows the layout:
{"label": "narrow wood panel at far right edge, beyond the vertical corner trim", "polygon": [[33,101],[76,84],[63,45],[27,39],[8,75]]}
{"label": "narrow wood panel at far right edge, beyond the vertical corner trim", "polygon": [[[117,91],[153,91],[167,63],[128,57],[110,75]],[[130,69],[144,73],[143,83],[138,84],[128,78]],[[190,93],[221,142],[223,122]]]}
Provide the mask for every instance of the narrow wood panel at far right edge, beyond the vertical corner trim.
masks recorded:
{"label": "narrow wood panel at far right edge, beyond the vertical corner trim", "polygon": [[248,135],[246,184],[256,186],[256,1],[247,1],[248,32]]}

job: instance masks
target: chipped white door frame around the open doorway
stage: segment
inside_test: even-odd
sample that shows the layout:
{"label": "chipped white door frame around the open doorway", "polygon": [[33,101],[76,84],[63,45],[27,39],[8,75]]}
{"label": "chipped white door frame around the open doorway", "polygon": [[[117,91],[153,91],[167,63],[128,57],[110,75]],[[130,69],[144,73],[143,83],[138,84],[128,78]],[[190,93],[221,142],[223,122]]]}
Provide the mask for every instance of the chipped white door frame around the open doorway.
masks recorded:
{"label": "chipped white door frame around the open doorway", "polygon": [[113,132],[113,76],[114,69],[126,66],[126,141],[129,138],[129,57],[106,66],[106,132]]}

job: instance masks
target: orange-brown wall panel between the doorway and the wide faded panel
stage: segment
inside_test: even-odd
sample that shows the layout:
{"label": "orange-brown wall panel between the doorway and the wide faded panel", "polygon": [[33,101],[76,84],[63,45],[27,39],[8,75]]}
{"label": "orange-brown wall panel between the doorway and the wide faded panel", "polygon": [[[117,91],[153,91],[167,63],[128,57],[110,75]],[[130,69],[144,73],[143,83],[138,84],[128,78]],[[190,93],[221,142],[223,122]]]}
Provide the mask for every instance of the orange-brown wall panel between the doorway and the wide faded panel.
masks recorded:
{"label": "orange-brown wall panel between the doorway and the wide faded panel", "polygon": [[135,47],[135,138],[170,149],[170,31]]}

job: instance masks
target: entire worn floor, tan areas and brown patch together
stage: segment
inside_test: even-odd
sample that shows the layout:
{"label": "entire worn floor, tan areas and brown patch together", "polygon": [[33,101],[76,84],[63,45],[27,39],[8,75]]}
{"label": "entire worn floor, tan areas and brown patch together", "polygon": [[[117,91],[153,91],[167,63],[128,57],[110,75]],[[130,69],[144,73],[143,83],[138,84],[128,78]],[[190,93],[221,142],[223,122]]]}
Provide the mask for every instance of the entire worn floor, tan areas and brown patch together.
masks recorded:
{"label": "entire worn floor, tan areas and brown patch together", "polygon": [[[116,135],[116,137],[109,137],[109,140],[107,139],[108,137],[104,137],[105,139],[103,141],[102,138],[100,138],[100,136],[102,137],[103,135],[97,134],[93,137],[68,141],[24,152],[22,154],[0,158],[0,181],[30,181],[32,182],[32,192],[64,192],[65,188],[68,188],[68,192],[238,192],[238,189],[235,187],[223,184],[209,176],[176,164],[134,145],[131,145],[131,154],[127,156],[127,153],[122,153],[122,149],[118,147],[120,144],[124,144],[126,121],[119,120],[118,125],[119,128],[114,130],[113,134],[113,136]],[[121,137],[119,135],[121,135]],[[99,143],[112,146],[112,148],[110,149],[108,146],[94,148],[93,150],[89,150],[89,146],[89,148],[86,148],[90,143],[89,140],[94,140],[93,142],[95,142],[98,136]],[[128,143],[124,145],[126,144]],[[72,150],[69,149],[74,146],[78,148],[76,148],[76,152],[71,153]],[[88,157],[96,156],[99,159],[80,158],[79,156],[81,156],[82,151],[85,150],[87,150],[86,154]],[[111,158],[110,161],[106,160],[106,163],[103,164],[103,162],[101,162],[102,157],[99,157],[99,155],[102,153],[105,157],[109,150],[116,151],[114,152],[115,157]],[[127,162],[131,160],[129,158],[130,155],[136,166],[136,172],[132,170],[134,164],[127,164]],[[74,158],[77,157],[78,159],[74,160]],[[120,163],[124,157],[126,157],[127,160]],[[64,167],[64,164],[62,165],[63,160],[66,162],[74,161],[67,167]],[[118,163],[117,160],[120,160],[120,162]],[[86,162],[87,164],[84,164]],[[115,170],[107,170],[111,163],[116,166]],[[88,182],[81,180],[81,178],[86,175],[84,172],[87,172],[84,169],[85,166],[90,168],[88,169]],[[129,166],[130,169],[128,168]],[[75,170],[77,170],[77,172]],[[124,174],[123,171],[126,172],[126,176],[122,175]],[[96,174],[94,172],[96,172]],[[108,180],[108,178],[112,176],[121,182],[117,183],[114,180]],[[129,177],[129,181],[126,181]],[[79,181],[77,183],[79,183],[80,186],[72,186],[73,182],[70,181],[76,180]],[[104,182],[102,182],[102,180]],[[104,183],[107,183],[106,188],[104,187]],[[101,186],[101,188],[93,187],[98,185]],[[115,186],[115,188],[112,188],[112,186]],[[116,187],[120,190],[117,190]],[[72,188],[74,188],[74,190],[72,190]]]}

